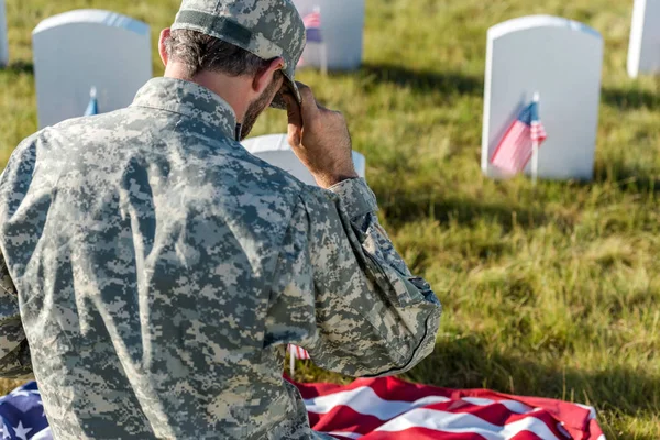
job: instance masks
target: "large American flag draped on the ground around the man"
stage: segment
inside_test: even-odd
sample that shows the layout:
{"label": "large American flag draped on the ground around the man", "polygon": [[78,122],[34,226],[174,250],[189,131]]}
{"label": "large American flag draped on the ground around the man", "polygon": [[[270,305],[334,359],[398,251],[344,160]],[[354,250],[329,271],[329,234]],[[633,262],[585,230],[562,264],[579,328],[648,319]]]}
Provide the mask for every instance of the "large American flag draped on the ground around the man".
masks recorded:
{"label": "large American flag draped on the ground around the man", "polygon": [[[566,402],[394,377],[294,385],[311,427],[342,440],[605,440],[595,410]],[[34,382],[0,398],[0,421],[2,440],[53,438]]]}

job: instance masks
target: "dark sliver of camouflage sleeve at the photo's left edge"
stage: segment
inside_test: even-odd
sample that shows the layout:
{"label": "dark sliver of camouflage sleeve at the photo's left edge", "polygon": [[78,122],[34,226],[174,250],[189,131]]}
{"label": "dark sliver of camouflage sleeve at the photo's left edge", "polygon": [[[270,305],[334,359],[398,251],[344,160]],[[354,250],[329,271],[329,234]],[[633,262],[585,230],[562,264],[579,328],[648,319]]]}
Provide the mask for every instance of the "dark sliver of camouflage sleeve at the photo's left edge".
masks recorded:
{"label": "dark sliver of camouflage sleeve at the photo's left edge", "polygon": [[0,254],[0,377],[32,377],[30,346],[21,323],[19,296]]}

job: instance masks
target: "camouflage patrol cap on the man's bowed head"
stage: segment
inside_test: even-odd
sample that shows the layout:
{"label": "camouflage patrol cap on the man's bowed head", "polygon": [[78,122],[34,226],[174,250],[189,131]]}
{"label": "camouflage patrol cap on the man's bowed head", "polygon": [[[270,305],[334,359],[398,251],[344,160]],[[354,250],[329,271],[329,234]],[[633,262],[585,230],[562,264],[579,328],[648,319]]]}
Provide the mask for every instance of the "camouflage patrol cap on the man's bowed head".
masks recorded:
{"label": "camouflage patrol cap on the man's bowed head", "polygon": [[[263,59],[283,57],[286,85],[301,101],[295,72],[306,36],[292,0],[184,0],[172,26],[177,29],[215,36]],[[271,107],[286,109],[280,94]]]}

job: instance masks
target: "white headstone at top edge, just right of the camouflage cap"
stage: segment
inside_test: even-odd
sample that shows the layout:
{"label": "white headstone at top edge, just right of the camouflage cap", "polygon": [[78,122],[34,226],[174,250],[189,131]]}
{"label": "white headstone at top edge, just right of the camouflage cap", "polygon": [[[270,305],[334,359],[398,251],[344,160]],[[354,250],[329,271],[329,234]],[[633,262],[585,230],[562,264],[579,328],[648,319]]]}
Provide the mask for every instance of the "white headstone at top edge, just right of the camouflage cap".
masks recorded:
{"label": "white headstone at top edge, just right of the camouflage cap", "polygon": [[[364,0],[294,0],[305,16],[318,9],[321,34],[330,70],[354,70],[362,64]],[[321,67],[321,51],[310,45],[302,54],[305,65]]]}

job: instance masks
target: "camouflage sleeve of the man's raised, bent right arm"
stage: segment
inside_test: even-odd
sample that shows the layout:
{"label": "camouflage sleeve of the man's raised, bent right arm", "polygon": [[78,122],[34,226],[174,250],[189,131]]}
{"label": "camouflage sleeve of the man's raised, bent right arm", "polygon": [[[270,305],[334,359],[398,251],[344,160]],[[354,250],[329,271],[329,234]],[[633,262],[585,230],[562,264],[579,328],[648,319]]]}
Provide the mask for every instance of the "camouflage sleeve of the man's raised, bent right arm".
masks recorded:
{"label": "camouflage sleeve of the man's raised, bent right arm", "polygon": [[301,196],[279,255],[270,343],[307,349],[351,376],[403,373],[433,350],[441,306],[376,217],[364,179]]}

